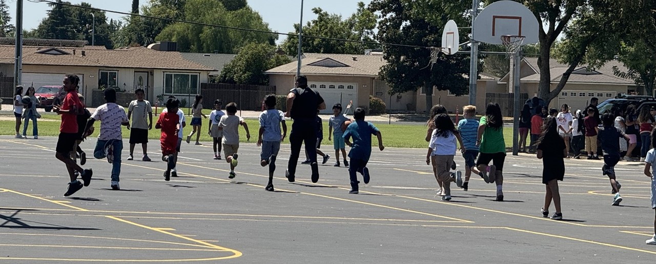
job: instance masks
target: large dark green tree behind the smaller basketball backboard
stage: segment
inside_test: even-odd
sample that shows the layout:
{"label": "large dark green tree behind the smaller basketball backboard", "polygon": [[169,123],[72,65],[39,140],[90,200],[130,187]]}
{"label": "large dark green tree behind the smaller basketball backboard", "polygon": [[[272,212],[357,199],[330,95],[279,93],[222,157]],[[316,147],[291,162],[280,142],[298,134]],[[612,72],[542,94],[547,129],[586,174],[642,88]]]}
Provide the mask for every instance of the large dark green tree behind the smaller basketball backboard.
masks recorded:
{"label": "large dark green tree behind the smaller basketball backboard", "polygon": [[[441,0],[373,0],[369,10],[380,13],[377,40],[421,47],[440,47],[442,30],[449,18],[458,24],[470,24],[462,16],[468,10],[467,1]],[[461,42],[468,41],[461,33]],[[455,95],[468,91],[469,58],[466,55],[438,55],[430,65],[431,51],[426,48],[384,46],[380,77],[392,87],[390,93],[404,93],[423,88],[426,109],[432,107],[433,88],[449,90]]]}

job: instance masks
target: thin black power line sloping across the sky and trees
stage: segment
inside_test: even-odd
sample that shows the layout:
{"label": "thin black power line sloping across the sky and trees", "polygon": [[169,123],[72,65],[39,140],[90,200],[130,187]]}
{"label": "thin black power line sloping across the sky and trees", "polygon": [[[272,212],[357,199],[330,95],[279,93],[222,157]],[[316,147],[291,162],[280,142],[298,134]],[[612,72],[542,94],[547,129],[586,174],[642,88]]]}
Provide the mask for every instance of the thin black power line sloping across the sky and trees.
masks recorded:
{"label": "thin black power line sloping across the sky and trees", "polygon": [[[132,14],[132,13],[128,13],[128,12],[112,11],[112,10],[108,10],[108,9],[97,9],[95,7],[82,7],[82,6],[79,6],[79,5],[72,5],[72,4],[68,4],[68,3],[58,3],[58,2],[55,2],[55,1],[47,1],[47,0],[28,0],[28,1],[30,1],[32,3],[51,3],[51,4],[56,4],[56,5],[64,5],[66,7],[77,7],[77,8],[81,8],[81,9],[90,9],[90,10],[110,12],[110,13],[115,13],[115,14],[125,14],[126,16],[138,16],[138,17],[142,17],[142,18],[168,20],[168,21],[171,21],[171,22],[194,24],[194,25],[198,25],[198,26],[209,26],[209,27],[214,27],[214,28],[226,28],[226,29],[229,29],[229,30],[241,30],[241,31],[247,31],[247,32],[258,32],[258,33],[267,33],[267,34],[277,34],[277,35],[287,35],[287,36],[291,36],[291,37],[298,37],[298,34],[269,32],[269,31],[266,31],[266,30],[253,30],[251,28],[237,28],[237,27],[232,27],[232,26],[221,26],[221,25],[215,25],[215,24],[205,24],[205,23],[200,23],[200,22],[178,20],[178,19],[173,19],[173,18],[161,18],[161,17],[157,17],[157,16],[146,16],[144,14]],[[300,26],[302,26],[302,25],[300,25]],[[318,36],[313,36],[313,35],[302,35],[302,37],[307,37],[307,38],[312,38],[312,39],[345,41],[345,42],[353,42],[353,43],[361,43],[361,44],[395,46],[395,47],[409,47],[409,48],[421,48],[421,49],[430,48],[430,47],[426,47],[426,46],[404,45],[404,44],[393,44],[393,43],[378,43],[378,42],[372,42],[372,41],[337,39],[337,38],[333,38],[333,37],[318,37]]]}

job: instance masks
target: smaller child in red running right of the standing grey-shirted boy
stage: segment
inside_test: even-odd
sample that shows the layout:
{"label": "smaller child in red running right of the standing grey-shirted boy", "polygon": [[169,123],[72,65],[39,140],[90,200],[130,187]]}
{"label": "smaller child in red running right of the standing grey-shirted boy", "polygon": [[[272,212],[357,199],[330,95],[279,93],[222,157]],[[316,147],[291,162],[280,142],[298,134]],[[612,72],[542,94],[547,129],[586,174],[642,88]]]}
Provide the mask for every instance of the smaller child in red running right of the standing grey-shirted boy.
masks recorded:
{"label": "smaller child in red running right of the standing grey-shirted boy", "polygon": [[171,169],[175,167],[174,155],[178,146],[178,133],[180,133],[180,117],[178,116],[178,99],[169,98],[166,102],[167,112],[159,114],[159,119],[155,123],[155,129],[161,129],[159,143],[162,148],[162,161],[167,162],[167,169],[164,171],[164,180],[171,179]]}

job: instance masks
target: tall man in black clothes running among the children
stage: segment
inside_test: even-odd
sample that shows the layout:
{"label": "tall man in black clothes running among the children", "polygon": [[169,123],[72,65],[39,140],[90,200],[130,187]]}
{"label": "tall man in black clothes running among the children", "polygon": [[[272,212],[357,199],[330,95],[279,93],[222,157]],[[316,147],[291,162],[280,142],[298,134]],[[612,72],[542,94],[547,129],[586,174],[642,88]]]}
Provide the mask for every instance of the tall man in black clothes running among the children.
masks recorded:
{"label": "tall man in black clothes running among the children", "polygon": [[291,156],[289,156],[289,164],[287,165],[287,171],[285,171],[285,177],[287,177],[290,183],[295,181],[300,145],[305,143],[305,151],[310,154],[312,183],[316,183],[319,181],[319,165],[317,164],[317,154],[315,151],[317,144],[317,110],[325,109],[326,104],[317,91],[308,87],[307,77],[297,76],[296,87],[295,89],[291,89],[289,95],[287,95],[287,112],[285,112],[285,117],[291,117],[294,123],[291,125],[291,133],[289,134]]}

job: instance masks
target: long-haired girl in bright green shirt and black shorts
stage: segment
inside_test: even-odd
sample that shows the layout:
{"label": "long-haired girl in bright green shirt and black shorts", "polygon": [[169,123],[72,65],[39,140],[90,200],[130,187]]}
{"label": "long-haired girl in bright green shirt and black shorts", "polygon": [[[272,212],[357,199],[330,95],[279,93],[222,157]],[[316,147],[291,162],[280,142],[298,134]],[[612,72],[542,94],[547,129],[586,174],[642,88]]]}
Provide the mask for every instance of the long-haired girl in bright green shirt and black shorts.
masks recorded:
{"label": "long-haired girl in bright green shirt and black shorts", "polygon": [[[487,104],[485,116],[478,126],[480,154],[476,166],[481,172],[485,183],[497,183],[497,199],[503,202],[503,163],[506,159],[506,143],[503,139],[503,120],[501,107],[495,102]],[[492,165],[487,165],[492,162]],[[488,170],[489,169],[489,170]]]}

